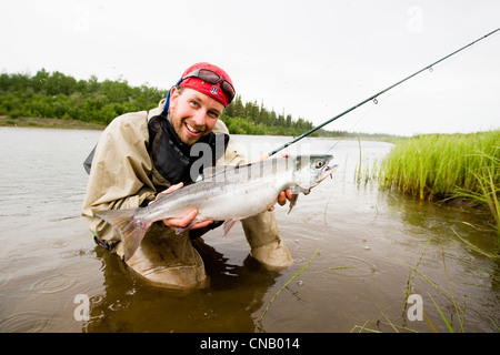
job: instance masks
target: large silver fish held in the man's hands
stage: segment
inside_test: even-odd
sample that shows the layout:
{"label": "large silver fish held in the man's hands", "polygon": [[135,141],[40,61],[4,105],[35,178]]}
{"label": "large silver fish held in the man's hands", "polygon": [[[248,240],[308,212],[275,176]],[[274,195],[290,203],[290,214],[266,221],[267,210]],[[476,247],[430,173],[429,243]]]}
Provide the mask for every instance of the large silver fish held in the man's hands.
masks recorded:
{"label": "large silver fish held in the man's hands", "polygon": [[289,155],[271,158],[238,166],[204,169],[201,180],[162,194],[144,207],[108,210],[96,215],[111,224],[123,243],[128,261],[140,246],[152,223],[170,217],[183,217],[197,209],[196,219],[177,233],[189,230],[200,221],[223,223],[224,236],[240,220],[271,209],[281,191],[290,189],[289,212],[297,204],[300,193],[309,193],[337,169],[333,155]]}

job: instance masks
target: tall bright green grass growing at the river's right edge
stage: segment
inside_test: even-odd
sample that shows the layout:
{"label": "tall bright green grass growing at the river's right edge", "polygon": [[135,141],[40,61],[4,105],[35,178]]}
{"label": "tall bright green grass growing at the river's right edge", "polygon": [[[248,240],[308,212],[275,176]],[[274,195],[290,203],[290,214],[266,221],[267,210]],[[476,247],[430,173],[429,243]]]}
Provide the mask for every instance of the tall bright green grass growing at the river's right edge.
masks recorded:
{"label": "tall bright green grass growing at the river's right edge", "polygon": [[400,140],[377,175],[381,187],[420,200],[466,197],[486,204],[500,243],[500,130]]}

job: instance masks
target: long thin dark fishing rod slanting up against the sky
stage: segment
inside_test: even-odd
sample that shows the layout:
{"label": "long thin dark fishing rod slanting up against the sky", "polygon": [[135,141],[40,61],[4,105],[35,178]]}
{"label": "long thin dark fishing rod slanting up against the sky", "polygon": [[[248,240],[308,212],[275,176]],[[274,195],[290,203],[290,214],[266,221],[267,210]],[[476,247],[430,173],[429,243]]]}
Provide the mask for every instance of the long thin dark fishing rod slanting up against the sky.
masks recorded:
{"label": "long thin dark fishing rod slanting up against the sky", "polygon": [[486,39],[487,37],[491,36],[491,34],[493,34],[493,33],[496,33],[496,32],[498,32],[498,31],[500,31],[500,28],[496,29],[494,31],[491,31],[491,32],[488,33],[488,34],[484,34],[483,37],[481,37],[481,38],[479,38],[479,39],[477,39],[477,40],[470,42],[470,43],[467,44],[467,45],[463,45],[462,48],[456,50],[454,52],[452,52],[452,53],[450,53],[450,54],[448,54],[448,55],[446,55],[446,57],[443,57],[443,58],[437,60],[436,62],[433,62],[433,63],[431,63],[431,64],[429,64],[429,65],[427,65],[427,67],[424,67],[424,68],[422,68],[422,69],[420,69],[419,71],[417,71],[417,72],[412,73],[411,75],[409,75],[409,77],[407,77],[407,78],[404,78],[404,79],[398,81],[397,83],[394,83],[394,84],[392,84],[392,85],[390,85],[390,87],[383,89],[382,91],[377,92],[376,94],[373,94],[373,95],[371,95],[370,98],[368,98],[368,99],[361,101],[360,103],[353,105],[352,108],[350,108],[350,109],[343,111],[342,113],[336,115],[334,118],[332,118],[332,119],[330,119],[330,120],[328,120],[328,121],[324,121],[323,123],[321,123],[321,124],[314,126],[313,129],[310,129],[310,130],[307,131],[306,133],[299,135],[299,136],[296,138],[294,140],[292,140],[292,141],[288,142],[288,143],[283,144],[282,146],[280,146],[280,148],[273,150],[272,152],[269,153],[269,156],[274,155],[274,154],[278,153],[279,151],[286,149],[287,146],[290,146],[290,145],[293,144],[293,143],[297,143],[297,142],[300,141],[301,139],[303,139],[303,138],[308,136],[309,134],[311,134],[311,133],[318,131],[319,129],[323,128],[324,125],[329,124],[330,122],[333,122],[334,120],[340,119],[342,115],[348,114],[349,112],[351,112],[351,111],[358,109],[359,106],[362,106],[363,104],[366,104],[366,103],[369,102],[369,101],[373,101],[373,102],[377,104],[377,103],[378,103],[377,98],[380,97],[381,94],[388,92],[389,90],[391,90],[391,89],[398,87],[399,84],[403,83],[403,82],[407,81],[407,80],[410,80],[411,78],[413,78],[413,77],[420,74],[421,72],[423,72],[423,71],[426,71],[426,70],[432,71],[432,67],[434,67],[434,65],[439,64],[440,62],[447,60],[448,58],[450,58],[450,57],[457,54],[458,52],[461,52],[461,51],[463,51],[464,49],[467,49],[467,48],[469,48],[469,47],[476,44],[477,42],[482,41],[482,40]]}

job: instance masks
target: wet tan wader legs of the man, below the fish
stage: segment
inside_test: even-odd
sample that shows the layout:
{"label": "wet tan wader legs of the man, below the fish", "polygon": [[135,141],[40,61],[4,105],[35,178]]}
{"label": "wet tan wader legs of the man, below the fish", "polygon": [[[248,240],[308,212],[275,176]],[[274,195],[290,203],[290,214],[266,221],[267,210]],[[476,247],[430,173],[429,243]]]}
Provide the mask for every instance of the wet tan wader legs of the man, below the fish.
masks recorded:
{"label": "wet tan wader legs of the man, below the fish", "polygon": [[[268,270],[291,265],[287,246],[280,241],[272,212],[242,221],[251,255]],[[123,256],[121,243],[117,254]],[[188,233],[176,234],[161,222],[154,223],[127,264],[153,284],[177,290],[197,290],[208,285],[203,260],[192,246]]]}

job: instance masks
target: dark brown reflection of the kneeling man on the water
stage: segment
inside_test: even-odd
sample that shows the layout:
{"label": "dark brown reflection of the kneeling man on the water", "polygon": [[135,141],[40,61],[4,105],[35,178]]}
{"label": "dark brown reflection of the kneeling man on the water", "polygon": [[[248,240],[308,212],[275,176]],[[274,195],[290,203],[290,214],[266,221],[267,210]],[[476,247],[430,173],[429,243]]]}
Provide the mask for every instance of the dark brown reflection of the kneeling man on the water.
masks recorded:
{"label": "dark brown reflection of the kneeling man on the water", "polygon": [[103,293],[91,302],[91,320],[82,331],[256,332],[253,314],[280,273],[263,270],[250,255],[241,265],[230,263],[201,239],[194,246],[204,261],[210,286],[191,292],[152,286],[114,254],[97,246],[96,255],[103,261]]}

